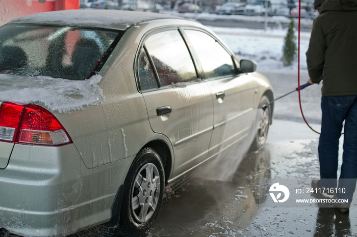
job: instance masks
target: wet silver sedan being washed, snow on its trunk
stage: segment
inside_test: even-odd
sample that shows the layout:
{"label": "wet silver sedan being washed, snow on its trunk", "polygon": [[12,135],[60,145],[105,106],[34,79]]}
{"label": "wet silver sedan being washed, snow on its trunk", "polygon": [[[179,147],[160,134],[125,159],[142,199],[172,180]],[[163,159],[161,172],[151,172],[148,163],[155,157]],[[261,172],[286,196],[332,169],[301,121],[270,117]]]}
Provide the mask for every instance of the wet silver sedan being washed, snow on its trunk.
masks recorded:
{"label": "wet silver sedan being washed, snow on its trunk", "polygon": [[57,11],[0,27],[0,227],[144,234],[165,185],[243,140],[264,145],[273,90],[256,66],[205,26],[155,13]]}

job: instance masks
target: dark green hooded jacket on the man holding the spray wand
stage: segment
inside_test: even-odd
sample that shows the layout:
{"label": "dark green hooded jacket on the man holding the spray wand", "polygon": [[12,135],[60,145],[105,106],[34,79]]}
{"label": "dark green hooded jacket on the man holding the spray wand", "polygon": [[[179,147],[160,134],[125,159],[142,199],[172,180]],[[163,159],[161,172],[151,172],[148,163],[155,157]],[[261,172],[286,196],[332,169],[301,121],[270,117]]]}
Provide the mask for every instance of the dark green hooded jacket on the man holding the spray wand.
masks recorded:
{"label": "dark green hooded jacket on the man holding the spray wand", "polygon": [[325,0],[306,56],[322,96],[357,95],[357,0]]}

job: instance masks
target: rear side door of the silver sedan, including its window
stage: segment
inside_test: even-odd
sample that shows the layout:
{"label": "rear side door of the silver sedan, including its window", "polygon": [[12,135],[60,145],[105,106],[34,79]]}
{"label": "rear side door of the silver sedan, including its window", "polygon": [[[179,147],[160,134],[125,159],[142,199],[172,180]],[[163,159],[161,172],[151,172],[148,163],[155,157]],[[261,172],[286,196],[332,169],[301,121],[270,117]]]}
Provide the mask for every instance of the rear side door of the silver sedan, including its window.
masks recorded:
{"label": "rear side door of the silver sedan, including its window", "polygon": [[138,57],[139,87],[152,131],[167,136],[174,152],[172,176],[205,160],[213,129],[207,83],[197,79],[179,30],[149,35]]}

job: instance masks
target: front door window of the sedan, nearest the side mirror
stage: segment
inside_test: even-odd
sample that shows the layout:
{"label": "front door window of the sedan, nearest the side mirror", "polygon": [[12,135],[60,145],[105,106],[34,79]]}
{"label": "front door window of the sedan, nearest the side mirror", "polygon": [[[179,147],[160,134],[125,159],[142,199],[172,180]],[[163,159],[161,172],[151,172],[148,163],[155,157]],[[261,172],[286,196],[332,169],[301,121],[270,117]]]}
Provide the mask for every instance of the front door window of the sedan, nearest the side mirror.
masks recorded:
{"label": "front door window of the sedan, nearest the side mirror", "polygon": [[206,79],[235,75],[232,56],[214,38],[206,33],[192,29],[185,30]]}

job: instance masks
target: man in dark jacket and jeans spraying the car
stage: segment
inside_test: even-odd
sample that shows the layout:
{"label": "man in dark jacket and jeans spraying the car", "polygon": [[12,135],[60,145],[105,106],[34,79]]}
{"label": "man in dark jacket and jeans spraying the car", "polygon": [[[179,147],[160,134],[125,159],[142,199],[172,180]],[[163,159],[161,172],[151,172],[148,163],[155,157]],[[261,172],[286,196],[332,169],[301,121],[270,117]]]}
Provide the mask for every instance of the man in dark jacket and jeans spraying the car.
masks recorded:
{"label": "man in dark jacket and jeans spraying the car", "polygon": [[[348,203],[335,203],[341,213],[348,213],[357,178],[357,0],[325,0],[314,6],[321,8],[306,53],[308,82],[322,80],[323,85],[318,147],[321,180],[313,181],[312,187],[321,192],[320,188],[326,188],[325,193],[335,194],[334,201],[348,199]],[[343,122],[343,162],[337,186]]]}

